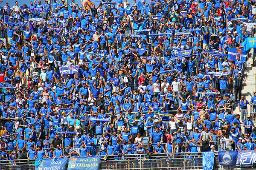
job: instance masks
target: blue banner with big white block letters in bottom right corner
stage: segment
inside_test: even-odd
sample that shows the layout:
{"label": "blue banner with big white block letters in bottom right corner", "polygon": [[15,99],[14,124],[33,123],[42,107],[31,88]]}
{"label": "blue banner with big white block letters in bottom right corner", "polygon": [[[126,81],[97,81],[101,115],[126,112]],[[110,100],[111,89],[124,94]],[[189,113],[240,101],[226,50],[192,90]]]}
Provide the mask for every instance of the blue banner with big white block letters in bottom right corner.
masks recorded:
{"label": "blue banner with big white block letters in bottom right corner", "polygon": [[241,166],[252,166],[256,164],[256,151],[239,151],[238,164]]}

